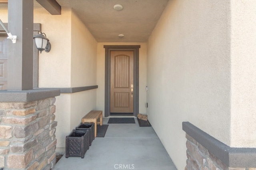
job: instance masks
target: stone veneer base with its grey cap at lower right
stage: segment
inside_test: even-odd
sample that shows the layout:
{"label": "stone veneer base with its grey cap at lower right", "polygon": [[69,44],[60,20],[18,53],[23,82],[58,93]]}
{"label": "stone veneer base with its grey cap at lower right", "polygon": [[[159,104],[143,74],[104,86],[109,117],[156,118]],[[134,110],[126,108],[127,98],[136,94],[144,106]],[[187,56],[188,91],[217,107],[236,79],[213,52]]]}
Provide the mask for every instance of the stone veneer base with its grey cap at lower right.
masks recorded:
{"label": "stone veneer base with its grey cap at lower right", "polygon": [[256,170],[256,148],[232,148],[189,122],[182,123],[186,132],[186,169]]}

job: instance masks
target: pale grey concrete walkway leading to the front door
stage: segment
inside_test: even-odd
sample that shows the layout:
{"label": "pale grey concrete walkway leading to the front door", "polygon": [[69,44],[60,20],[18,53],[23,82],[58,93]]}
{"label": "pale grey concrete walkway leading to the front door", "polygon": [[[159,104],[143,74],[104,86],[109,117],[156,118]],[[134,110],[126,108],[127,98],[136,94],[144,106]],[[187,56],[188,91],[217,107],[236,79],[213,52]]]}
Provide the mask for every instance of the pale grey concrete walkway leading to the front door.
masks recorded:
{"label": "pale grey concrete walkway leading to the front door", "polygon": [[136,124],[109,124],[105,137],[95,138],[83,159],[64,155],[53,170],[176,170],[154,129],[134,119]]}

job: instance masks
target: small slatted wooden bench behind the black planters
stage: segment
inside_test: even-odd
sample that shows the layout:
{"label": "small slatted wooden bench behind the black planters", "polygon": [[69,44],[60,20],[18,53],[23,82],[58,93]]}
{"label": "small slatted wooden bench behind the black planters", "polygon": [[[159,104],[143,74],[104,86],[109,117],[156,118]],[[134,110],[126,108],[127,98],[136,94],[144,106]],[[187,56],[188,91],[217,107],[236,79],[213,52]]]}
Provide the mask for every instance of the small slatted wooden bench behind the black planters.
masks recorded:
{"label": "small slatted wooden bench behind the black planters", "polygon": [[[100,118],[100,121],[97,122],[97,119]],[[87,115],[85,115],[82,118],[82,123],[94,123],[94,137],[97,136],[97,123],[99,123],[100,125],[102,125],[102,111],[101,110],[92,110],[89,113],[87,113]]]}

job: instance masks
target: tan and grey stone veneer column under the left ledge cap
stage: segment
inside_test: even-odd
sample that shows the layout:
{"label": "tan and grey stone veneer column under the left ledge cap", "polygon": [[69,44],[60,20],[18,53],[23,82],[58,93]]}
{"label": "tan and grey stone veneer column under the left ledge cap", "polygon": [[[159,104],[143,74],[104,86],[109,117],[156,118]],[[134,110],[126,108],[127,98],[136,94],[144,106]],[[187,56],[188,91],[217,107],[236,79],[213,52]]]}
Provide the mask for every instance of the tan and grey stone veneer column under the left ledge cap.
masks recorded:
{"label": "tan and grey stone veneer column under the left ledge cap", "polygon": [[55,97],[0,102],[0,168],[50,170],[56,164]]}

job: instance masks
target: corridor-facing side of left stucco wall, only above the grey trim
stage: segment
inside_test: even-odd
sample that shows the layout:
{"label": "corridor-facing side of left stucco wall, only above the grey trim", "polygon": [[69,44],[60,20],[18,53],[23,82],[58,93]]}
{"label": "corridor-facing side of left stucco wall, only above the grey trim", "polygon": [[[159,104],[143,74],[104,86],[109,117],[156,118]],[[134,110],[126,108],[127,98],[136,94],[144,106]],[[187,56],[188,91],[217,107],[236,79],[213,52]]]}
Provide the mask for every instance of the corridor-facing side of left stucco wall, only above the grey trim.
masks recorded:
{"label": "corridor-facing side of left stucco wall, only above the grey trim", "polygon": [[97,41],[72,12],[71,86],[96,85]]}

